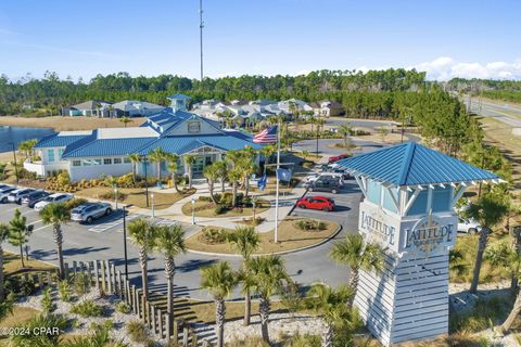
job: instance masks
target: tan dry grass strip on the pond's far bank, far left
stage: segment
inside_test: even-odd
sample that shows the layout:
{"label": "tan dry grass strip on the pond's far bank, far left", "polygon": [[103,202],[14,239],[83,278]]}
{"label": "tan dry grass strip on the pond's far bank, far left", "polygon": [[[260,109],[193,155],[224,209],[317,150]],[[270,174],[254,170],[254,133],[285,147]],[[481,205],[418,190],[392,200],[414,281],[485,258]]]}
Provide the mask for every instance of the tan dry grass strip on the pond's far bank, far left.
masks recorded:
{"label": "tan dry grass strip on the pond's far bank, far left", "polygon": [[[138,127],[144,121],[144,118],[130,118],[127,127]],[[56,131],[65,130],[90,130],[98,128],[123,128],[125,125],[117,118],[98,118],[98,117],[0,117],[2,126],[53,128]]]}

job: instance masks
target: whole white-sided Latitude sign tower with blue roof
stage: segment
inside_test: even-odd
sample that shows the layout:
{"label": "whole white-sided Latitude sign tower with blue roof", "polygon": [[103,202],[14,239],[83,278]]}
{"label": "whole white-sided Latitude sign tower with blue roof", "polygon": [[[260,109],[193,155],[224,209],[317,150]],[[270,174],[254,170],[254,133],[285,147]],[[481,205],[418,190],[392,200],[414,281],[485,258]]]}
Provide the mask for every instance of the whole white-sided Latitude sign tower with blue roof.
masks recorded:
{"label": "whole white-sided Latitude sign tower with blue roof", "polygon": [[359,232],[385,249],[384,270],[360,271],[355,297],[382,344],[448,333],[448,250],[456,241],[456,202],[488,171],[414,142],[339,162],[364,194]]}

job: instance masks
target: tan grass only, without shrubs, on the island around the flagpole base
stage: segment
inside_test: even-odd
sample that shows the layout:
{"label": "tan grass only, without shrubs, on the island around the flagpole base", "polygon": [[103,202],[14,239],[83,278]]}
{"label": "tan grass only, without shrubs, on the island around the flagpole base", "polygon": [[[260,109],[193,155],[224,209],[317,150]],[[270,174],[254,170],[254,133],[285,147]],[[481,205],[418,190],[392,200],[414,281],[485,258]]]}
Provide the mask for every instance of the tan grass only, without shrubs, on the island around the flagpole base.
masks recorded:
{"label": "tan grass only, without shrubs, on the island around the flagpole base", "polygon": [[[330,237],[339,230],[339,224],[332,221],[322,222],[326,229],[320,231],[303,231],[294,226],[300,218],[287,218],[279,223],[279,243],[274,243],[275,231],[259,234],[260,247],[256,254],[276,253],[310,246]],[[233,232],[233,230],[229,230]],[[193,234],[186,241],[187,248],[201,252],[234,254],[227,243],[207,244],[201,241],[202,231]]]}

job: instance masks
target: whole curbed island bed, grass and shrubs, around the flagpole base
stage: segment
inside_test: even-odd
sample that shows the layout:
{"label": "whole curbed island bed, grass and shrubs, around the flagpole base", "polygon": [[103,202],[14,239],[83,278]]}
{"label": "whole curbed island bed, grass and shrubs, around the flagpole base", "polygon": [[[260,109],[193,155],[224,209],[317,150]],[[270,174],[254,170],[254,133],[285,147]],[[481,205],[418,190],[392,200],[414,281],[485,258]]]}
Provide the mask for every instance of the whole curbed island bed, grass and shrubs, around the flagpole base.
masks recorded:
{"label": "whole curbed island bed, grass and shrubs, around the flagpole base", "polygon": [[[301,223],[319,226],[319,229],[314,229],[314,227],[301,229],[298,227]],[[332,221],[287,218],[279,223],[279,243],[274,243],[275,231],[260,233],[260,244],[256,254],[288,252],[313,246],[328,240],[334,235],[339,229],[340,226]],[[234,254],[232,247],[226,242],[225,235],[227,232],[232,233],[233,230],[205,227],[200,232],[188,237],[186,241],[187,248],[199,252]]]}

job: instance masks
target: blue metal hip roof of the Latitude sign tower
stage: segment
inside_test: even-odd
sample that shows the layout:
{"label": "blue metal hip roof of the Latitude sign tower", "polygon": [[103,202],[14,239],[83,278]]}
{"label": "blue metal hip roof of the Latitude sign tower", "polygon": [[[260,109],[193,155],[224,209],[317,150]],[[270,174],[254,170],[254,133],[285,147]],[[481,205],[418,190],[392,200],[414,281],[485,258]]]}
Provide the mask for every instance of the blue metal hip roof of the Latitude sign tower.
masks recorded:
{"label": "blue metal hip roof of the Latitude sign tower", "polygon": [[497,179],[492,172],[425,147],[406,142],[339,160],[348,170],[395,185],[468,182]]}

